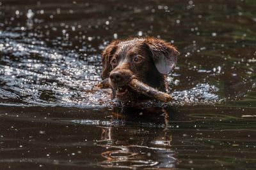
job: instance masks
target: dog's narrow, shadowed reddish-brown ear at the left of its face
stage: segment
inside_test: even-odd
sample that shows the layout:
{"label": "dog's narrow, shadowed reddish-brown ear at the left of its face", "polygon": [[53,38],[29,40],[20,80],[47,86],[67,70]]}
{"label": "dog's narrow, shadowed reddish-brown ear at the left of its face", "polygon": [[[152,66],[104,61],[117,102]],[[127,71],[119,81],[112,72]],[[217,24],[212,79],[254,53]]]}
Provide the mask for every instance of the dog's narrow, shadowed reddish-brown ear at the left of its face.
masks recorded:
{"label": "dog's narrow, shadowed reddish-brown ear at the left of its face", "polygon": [[110,59],[115,53],[118,43],[118,40],[112,41],[108,46],[106,46],[106,48],[102,52],[102,80],[108,78],[109,76],[109,73],[111,71]]}

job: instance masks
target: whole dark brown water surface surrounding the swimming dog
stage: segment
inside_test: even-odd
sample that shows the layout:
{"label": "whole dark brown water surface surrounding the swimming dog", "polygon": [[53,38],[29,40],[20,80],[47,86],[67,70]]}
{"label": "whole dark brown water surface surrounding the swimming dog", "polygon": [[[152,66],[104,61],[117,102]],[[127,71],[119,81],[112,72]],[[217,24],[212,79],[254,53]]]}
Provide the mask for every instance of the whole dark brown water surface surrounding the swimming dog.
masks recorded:
{"label": "whole dark brown water surface surrounding the swimming dog", "polygon": [[[256,1],[0,0],[0,169],[256,169]],[[120,106],[115,38],[181,55],[173,101]]]}

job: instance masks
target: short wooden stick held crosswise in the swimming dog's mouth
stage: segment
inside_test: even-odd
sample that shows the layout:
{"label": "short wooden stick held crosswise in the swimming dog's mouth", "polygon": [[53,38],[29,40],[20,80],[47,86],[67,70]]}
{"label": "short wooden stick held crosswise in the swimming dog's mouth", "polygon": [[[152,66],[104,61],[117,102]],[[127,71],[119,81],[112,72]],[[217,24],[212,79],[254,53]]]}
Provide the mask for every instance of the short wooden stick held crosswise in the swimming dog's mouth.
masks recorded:
{"label": "short wooden stick held crosswise in the swimming dog's mouth", "polygon": [[[134,91],[144,94],[145,96],[152,97],[154,99],[157,99],[158,101],[168,102],[172,100],[172,97],[169,94],[166,94],[164,92],[161,92],[159,90],[154,89],[153,87],[150,87],[146,85],[145,83],[142,83],[139,80],[132,79],[129,83],[129,86]],[[106,78],[105,80],[101,81],[96,87],[96,89],[108,89],[112,88],[109,84],[109,79]]]}

